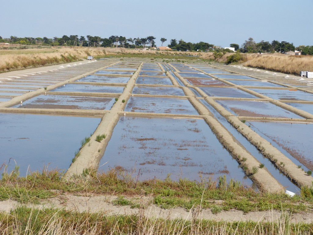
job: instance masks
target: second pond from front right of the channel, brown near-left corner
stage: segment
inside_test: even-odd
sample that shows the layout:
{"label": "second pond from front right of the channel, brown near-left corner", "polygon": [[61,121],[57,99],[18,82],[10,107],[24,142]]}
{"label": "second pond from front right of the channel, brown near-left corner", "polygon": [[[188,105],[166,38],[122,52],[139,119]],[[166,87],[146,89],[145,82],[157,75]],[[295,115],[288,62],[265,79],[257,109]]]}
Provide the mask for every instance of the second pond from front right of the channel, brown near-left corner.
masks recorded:
{"label": "second pond from front right of the channel, brown near-left corner", "polygon": [[269,102],[246,100],[216,100],[234,115],[247,117],[301,118]]}

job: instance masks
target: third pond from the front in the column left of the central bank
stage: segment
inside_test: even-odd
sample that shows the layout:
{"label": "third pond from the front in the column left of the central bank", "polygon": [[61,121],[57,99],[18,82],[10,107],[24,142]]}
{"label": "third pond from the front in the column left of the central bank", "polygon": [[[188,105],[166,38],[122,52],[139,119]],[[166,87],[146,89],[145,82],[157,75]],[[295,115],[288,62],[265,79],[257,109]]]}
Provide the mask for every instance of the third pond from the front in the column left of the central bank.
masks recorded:
{"label": "third pond from the front in the column left of the central bank", "polygon": [[60,92],[103,92],[103,93],[122,93],[123,86],[97,86],[85,84],[66,84],[51,91]]}

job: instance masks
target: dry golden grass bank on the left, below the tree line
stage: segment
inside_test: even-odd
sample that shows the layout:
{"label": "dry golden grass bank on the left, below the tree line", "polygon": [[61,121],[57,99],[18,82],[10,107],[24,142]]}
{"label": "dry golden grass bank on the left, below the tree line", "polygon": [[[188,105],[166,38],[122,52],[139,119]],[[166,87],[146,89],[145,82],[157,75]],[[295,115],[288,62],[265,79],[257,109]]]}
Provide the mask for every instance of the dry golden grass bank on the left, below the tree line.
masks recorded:
{"label": "dry golden grass bank on the left, below the tree line", "polygon": [[[28,46],[29,47],[29,46]],[[5,49],[6,48],[6,49]],[[126,48],[92,48],[92,47],[50,47],[21,49],[16,45],[15,49],[11,46],[1,46],[0,50],[0,73],[11,70],[20,70],[25,68],[40,67],[52,64],[67,63],[86,59],[88,55],[94,57],[104,55],[190,55],[190,52],[177,51],[139,51]],[[23,46],[22,46],[23,48]],[[195,53],[192,55],[203,55],[204,53]]]}

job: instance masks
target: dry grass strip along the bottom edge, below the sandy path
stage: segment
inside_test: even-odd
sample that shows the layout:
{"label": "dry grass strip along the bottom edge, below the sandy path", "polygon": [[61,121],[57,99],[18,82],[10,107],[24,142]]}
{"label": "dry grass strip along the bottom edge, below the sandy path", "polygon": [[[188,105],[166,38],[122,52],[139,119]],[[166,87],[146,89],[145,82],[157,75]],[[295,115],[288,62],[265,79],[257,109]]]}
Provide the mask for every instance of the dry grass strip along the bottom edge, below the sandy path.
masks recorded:
{"label": "dry grass strip along the bottom edge, below the sandy path", "polygon": [[312,228],[290,223],[287,213],[277,222],[215,222],[199,220],[197,214],[172,220],[27,207],[0,213],[0,231],[5,234],[310,234]]}

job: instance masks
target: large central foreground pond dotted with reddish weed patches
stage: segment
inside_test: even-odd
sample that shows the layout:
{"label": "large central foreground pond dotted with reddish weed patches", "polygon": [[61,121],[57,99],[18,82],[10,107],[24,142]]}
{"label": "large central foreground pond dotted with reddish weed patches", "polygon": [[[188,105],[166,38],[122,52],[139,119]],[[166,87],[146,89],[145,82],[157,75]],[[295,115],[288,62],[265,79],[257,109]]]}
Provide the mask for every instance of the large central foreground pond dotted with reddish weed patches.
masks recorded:
{"label": "large central foreground pond dotted with reddish weed patches", "polygon": [[139,180],[226,175],[252,185],[203,119],[121,117],[98,171],[115,167]]}

